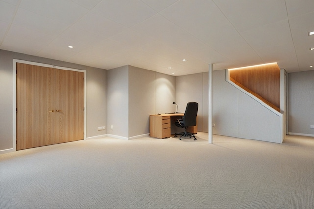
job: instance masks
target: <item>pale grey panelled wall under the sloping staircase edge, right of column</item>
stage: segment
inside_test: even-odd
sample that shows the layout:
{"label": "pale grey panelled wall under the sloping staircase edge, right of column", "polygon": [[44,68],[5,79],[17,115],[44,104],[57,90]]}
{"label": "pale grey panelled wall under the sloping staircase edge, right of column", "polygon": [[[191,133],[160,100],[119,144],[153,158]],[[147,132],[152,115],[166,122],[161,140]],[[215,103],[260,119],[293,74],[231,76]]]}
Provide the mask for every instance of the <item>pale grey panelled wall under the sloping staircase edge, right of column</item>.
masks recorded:
{"label": "pale grey panelled wall under the sloping staircase edge, right of column", "polygon": [[281,143],[282,114],[213,71],[213,134]]}

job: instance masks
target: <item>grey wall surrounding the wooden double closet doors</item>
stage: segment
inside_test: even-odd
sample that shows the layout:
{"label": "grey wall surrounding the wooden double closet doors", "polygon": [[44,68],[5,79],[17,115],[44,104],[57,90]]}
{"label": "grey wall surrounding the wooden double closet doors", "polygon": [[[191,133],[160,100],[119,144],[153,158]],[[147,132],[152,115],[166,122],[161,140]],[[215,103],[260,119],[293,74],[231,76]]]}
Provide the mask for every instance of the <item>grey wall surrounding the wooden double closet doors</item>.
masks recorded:
{"label": "grey wall surrounding the wooden double closet doors", "polygon": [[13,59],[86,70],[86,136],[106,134],[106,130],[98,131],[97,127],[107,124],[107,70],[0,50],[0,153],[13,148]]}

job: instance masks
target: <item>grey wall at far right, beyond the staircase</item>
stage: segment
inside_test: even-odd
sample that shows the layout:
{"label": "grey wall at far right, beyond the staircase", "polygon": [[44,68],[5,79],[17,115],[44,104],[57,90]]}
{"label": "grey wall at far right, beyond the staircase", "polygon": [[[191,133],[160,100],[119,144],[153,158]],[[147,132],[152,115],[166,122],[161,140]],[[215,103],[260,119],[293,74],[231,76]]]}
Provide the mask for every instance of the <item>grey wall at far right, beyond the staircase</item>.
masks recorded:
{"label": "grey wall at far right, beyond the staircase", "polygon": [[288,133],[314,136],[314,71],[288,73]]}

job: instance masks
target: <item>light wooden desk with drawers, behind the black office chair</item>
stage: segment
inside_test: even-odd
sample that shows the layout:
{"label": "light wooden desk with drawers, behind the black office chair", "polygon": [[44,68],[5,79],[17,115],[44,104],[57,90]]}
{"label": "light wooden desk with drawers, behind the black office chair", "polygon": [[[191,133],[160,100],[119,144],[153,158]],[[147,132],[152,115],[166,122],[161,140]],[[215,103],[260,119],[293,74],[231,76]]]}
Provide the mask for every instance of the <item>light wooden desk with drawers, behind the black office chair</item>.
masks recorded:
{"label": "light wooden desk with drawers, behind the black office chair", "polygon": [[[153,114],[149,116],[149,136],[159,139],[168,138],[171,136],[171,124],[174,124],[176,118],[181,118],[184,113],[171,114]],[[181,128],[180,132],[184,129]],[[197,125],[188,127],[188,132],[197,134]]]}

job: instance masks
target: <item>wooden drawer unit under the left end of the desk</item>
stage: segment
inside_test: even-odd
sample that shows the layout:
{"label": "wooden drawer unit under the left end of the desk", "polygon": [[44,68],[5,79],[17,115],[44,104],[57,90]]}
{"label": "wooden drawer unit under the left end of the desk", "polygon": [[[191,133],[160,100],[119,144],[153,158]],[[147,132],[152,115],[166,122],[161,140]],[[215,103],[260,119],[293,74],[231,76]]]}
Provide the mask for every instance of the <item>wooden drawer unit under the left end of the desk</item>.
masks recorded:
{"label": "wooden drawer unit under the left end of the desk", "polygon": [[149,135],[159,139],[170,137],[171,123],[170,116],[154,116],[149,117]]}

